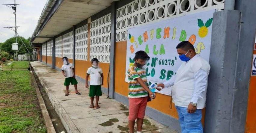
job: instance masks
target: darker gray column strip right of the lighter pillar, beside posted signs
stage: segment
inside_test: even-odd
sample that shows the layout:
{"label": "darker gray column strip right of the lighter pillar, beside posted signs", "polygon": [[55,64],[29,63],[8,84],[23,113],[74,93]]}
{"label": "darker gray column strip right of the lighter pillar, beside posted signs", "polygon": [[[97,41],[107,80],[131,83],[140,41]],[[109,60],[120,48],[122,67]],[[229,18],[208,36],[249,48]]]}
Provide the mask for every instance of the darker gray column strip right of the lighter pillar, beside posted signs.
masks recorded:
{"label": "darker gray column strip right of the lighter pillar, beside posted signs", "polygon": [[[245,132],[251,63],[256,31],[255,7],[255,0],[236,0],[235,3],[235,10],[241,12],[241,20],[230,133]],[[255,87],[250,89],[255,89]]]}

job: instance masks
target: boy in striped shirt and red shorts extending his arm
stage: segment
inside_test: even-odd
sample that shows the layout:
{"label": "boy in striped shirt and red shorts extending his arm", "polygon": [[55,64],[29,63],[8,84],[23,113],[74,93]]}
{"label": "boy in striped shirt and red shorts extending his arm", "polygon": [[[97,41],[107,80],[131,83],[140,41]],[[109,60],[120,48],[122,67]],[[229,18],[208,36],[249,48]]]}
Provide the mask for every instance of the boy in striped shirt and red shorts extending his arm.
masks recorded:
{"label": "boy in striped shirt and red shorts extending his arm", "polygon": [[148,88],[147,75],[143,66],[150,59],[144,51],[135,53],[134,65],[128,69],[129,79],[129,130],[134,133],[135,119],[137,119],[137,133],[141,133],[143,119],[147,107],[147,97],[155,98]]}

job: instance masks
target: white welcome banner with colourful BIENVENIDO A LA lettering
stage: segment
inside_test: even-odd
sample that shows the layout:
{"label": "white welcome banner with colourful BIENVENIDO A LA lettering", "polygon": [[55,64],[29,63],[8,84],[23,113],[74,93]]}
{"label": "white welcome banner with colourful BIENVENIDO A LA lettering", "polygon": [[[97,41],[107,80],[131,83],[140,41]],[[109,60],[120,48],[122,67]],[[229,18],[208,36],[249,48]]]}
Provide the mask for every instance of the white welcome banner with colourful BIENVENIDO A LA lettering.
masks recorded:
{"label": "white welcome banner with colourful BIENVENIDO A LA lettering", "polygon": [[[196,53],[209,61],[214,12],[211,10],[128,29],[126,72],[134,63],[135,53],[143,50],[150,56],[146,69],[148,81],[162,83],[170,80],[182,63],[176,46],[185,40],[190,41]],[[125,81],[128,82],[127,74]],[[156,92],[171,93],[170,88]]]}

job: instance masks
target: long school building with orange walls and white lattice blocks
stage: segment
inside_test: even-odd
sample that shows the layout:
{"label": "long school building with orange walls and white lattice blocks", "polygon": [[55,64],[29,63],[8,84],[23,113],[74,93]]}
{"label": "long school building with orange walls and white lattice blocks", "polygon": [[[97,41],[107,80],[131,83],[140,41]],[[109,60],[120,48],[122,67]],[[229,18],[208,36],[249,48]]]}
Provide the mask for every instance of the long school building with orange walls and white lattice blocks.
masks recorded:
{"label": "long school building with orange walls and white lattice blocks", "polygon": [[[38,47],[39,61],[53,69],[60,70],[62,57],[68,57],[82,82],[91,59],[98,58],[104,77],[110,71],[110,98],[128,105],[128,29],[215,9],[208,33],[211,70],[204,131],[256,133],[255,7],[255,0],[48,0],[31,43]],[[105,94],[107,82],[105,78]],[[170,101],[171,96],[156,93],[146,114],[180,131]]]}

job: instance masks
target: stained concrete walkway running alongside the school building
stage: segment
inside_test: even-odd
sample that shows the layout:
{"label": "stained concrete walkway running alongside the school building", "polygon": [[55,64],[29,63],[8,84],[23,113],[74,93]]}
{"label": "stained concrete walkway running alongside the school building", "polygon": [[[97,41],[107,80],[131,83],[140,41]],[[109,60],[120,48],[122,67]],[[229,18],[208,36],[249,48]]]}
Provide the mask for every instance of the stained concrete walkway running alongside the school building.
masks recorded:
{"label": "stained concrete walkway running alongside the school building", "polygon": [[[129,133],[128,107],[106,95],[100,96],[100,109],[91,109],[89,90],[79,82],[78,90],[82,95],[75,94],[75,88],[69,86],[70,95],[64,96],[64,77],[61,72],[35,61],[31,62],[45,91],[69,133]],[[94,101],[95,104],[95,101]],[[135,130],[136,131],[136,130]],[[145,117],[144,133],[177,133],[152,119]]]}

